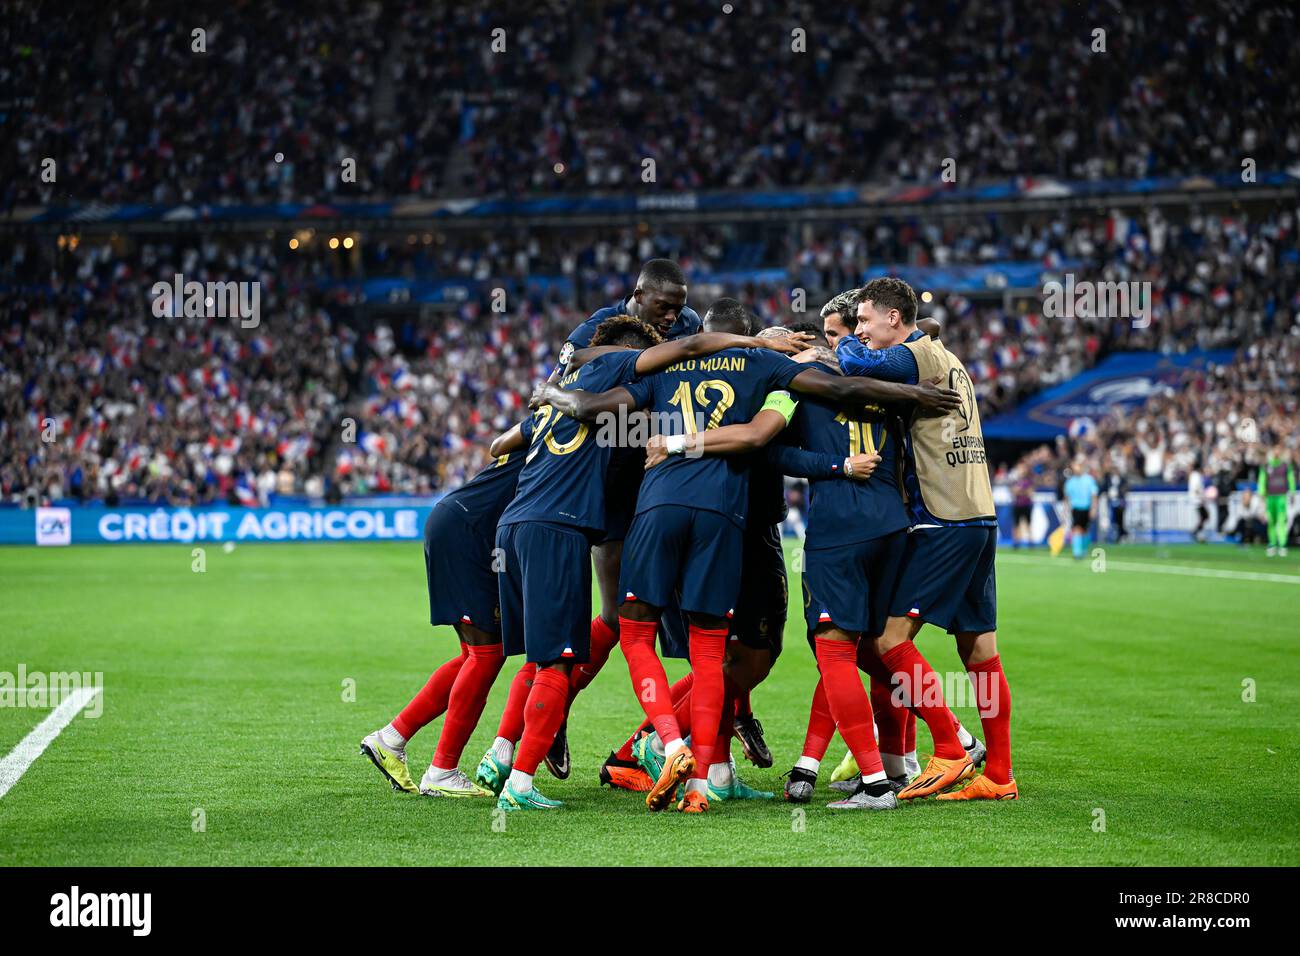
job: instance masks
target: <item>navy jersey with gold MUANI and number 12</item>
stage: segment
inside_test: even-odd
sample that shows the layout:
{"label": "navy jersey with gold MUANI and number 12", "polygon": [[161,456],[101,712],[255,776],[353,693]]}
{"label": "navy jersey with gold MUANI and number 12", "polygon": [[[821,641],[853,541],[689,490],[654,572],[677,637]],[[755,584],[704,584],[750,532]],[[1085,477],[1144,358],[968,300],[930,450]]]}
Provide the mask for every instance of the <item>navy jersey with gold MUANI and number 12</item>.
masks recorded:
{"label": "navy jersey with gold MUANI and number 12", "polygon": [[[694,434],[749,421],[768,392],[785,389],[805,368],[766,349],[727,349],[679,362],[632,390],[638,407],[653,412],[660,434]],[[688,505],[716,511],[744,528],[749,464],[745,457],[670,455],[646,472],[637,514],[659,505]]]}

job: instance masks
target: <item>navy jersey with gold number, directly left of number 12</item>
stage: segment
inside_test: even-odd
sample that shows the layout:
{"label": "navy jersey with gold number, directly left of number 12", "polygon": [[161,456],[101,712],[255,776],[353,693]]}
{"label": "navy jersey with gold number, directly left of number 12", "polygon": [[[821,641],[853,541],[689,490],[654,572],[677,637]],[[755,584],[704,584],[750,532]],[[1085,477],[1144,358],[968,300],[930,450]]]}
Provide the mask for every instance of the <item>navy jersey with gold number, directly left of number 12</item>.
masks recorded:
{"label": "navy jersey with gold number, directly left of number 12", "polygon": [[[607,392],[637,375],[634,349],[608,352],[560,381],[563,389]],[[604,531],[604,473],[614,447],[598,442],[598,429],[546,405],[533,416],[533,441],[519,476],[519,492],[500,524],[552,522]]]}

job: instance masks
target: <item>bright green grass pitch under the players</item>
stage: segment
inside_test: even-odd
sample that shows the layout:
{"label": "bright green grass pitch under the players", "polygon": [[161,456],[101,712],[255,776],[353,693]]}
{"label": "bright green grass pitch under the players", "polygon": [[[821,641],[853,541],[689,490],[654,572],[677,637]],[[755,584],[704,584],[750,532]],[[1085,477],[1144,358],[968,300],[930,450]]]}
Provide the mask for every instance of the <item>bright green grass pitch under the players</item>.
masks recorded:
{"label": "bright green grass pitch under the players", "polygon": [[[575,704],[573,775],[538,777],[564,809],[497,831],[491,801],[394,793],[358,756],[455,646],[424,623],[417,544],[213,546],[204,574],[190,546],[0,549],[0,671],[104,672],[103,715],[74,719],[0,799],[0,865],[1300,864],[1300,583],[1156,570],[1300,562],[1226,546],[1108,558],[1098,574],[1000,555],[1018,803],[836,814],[822,788],[803,817],[780,800],[651,816],[597,784],[640,719],[615,653]],[[776,766],[741,762],[777,793],[815,679],[802,627],[793,613],[754,693]],[[937,670],[959,667],[946,635],[919,644]],[[471,773],[511,674],[465,750]],[[0,757],[44,713],[0,709]],[[978,732],[972,710],[958,715]],[[438,726],[410,747],[417,779]],[[842,752],[836,740],[823,784]]]}

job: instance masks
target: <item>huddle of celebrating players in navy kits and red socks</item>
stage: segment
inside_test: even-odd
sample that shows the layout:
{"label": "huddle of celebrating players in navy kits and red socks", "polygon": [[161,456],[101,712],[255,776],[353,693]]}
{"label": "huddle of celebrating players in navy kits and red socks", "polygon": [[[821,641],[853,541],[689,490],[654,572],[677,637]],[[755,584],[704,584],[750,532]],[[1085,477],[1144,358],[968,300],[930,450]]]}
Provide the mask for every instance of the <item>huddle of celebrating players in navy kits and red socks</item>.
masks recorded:
{"label": "huddle of celebrating players in navy kits and red socks", "polygon": [[[558,809],[534,774],[545,760],[568,777],[569,708],[619,645],[646,719],[602,783],[645,792],[650,810],[771,799],[740,780],[731,741],[772,765],[750,692],[781,653],[789,475],[810,483],[800,563],[820,676],[785,799],[812,799],[836,731],[848,754],[833,809],[1017,799],[979,410],[965,367],[916,312],[906,282],[878,278],[828,302],[820,326],[754,334],[736,299],[701,320],[676,263],[646,263],[630,297],[568,337],[533,414],[491,444],[493,464],[430,512],[430,622],[455,628],[460,654],[361,753],[400,791]],[[916,649],[923,623],[956,636],[984,743]],[[656,639],[663,657],[690,662],[676,683]],[[516,654],[525,663],[471,778],[462,752]],[[407,741],[443,714],[416,784]],[[933,739],[924,769],[916,718]]]}

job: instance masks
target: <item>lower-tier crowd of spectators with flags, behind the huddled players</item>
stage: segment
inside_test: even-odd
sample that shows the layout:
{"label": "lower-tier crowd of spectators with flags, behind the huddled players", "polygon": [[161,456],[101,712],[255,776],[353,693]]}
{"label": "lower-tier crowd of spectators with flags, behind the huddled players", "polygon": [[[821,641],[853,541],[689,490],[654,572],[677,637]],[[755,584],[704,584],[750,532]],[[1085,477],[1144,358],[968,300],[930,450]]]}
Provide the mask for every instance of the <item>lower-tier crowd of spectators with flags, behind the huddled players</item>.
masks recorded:
{"label": "lower-tier crowd of spectators with flags, behind the huddled players", "polygon": [[[1023,293],[940,290],[926,311],[971,371],[985,416],[1114,351],[1247,349],[1240,363],[1152,399],[1132,420],[1100,423],[1100,447],[1122,454],[1127,473],[1179,481],[1197,457],[1217,471],[1219,458],[1235,455],[1190,445],[1206,408],[1219,431],[1235,433],[1249,418],[1269,434],[1286,432],[1275,420],[1284,410],[1248,403],[1284,394],[1288,382],[1295,392],[1300,282],[1292,211],[1167,215],[402,233],[361,235],[346,252],[329,250],[324,234],[304,235],[296,250],[266,234],[25,239],[0,259],[0,494],[187,502],[458,485],[485,463],[490,437],[523,414],[566,334],[659,255],[715,277],[693,280],[690,303],[701,312],[738,294],[766,325],[807,317],[792,311],[794,289],[815,313],[889,261],[1027,259],[1044,274],[1078,261],[1080,278],[1150,281],[1145,328],[1131,317],[1048,317],[1041,298]],[[763,250],[754,265],[783,280],[719,281],[737,247]],[[155,317],[151,286],[176,273],[259,281],[260,325]],[[384,276],[464,280],[469,291],[455,306],[384,308],[338,282]],[[506,310],[493,310],[491,289],[547,276],[568,285],[537,291],[519,282]],[[1260,393],[1247,388],[1252,380],[1274,385]],[[1050,470],[1066,453],[1050,464],[1044,454],[1031,462]]]}

